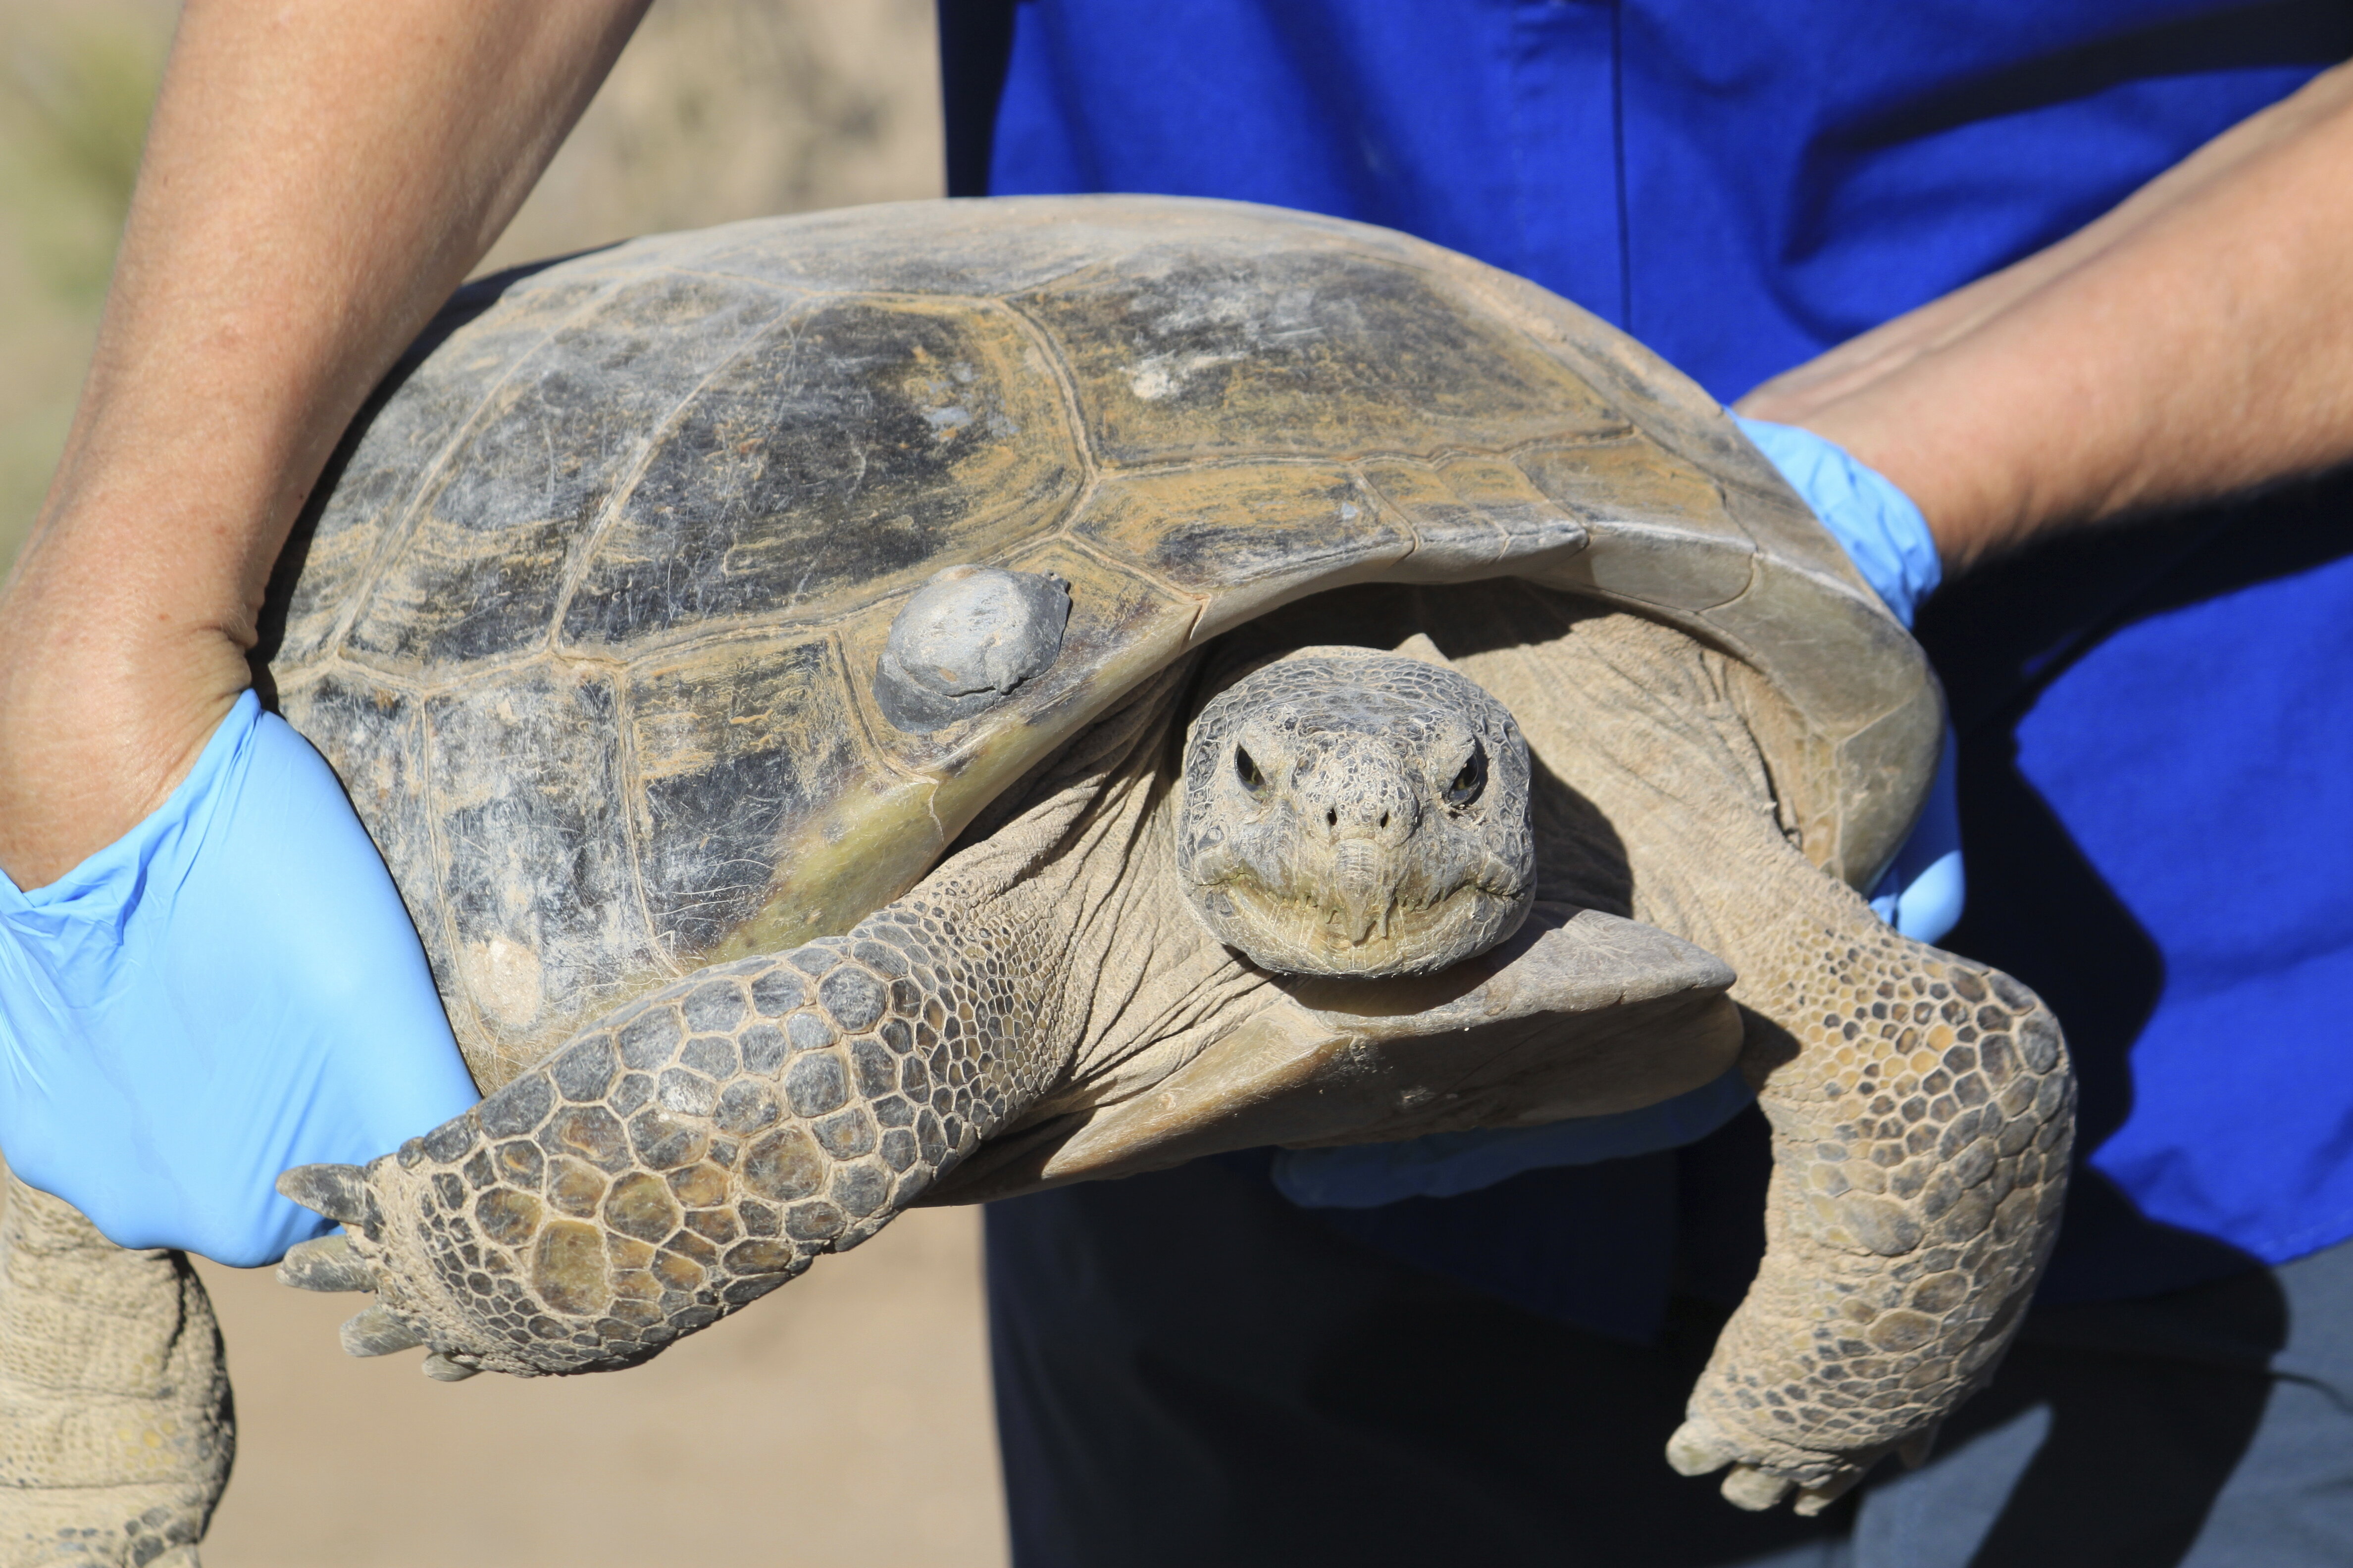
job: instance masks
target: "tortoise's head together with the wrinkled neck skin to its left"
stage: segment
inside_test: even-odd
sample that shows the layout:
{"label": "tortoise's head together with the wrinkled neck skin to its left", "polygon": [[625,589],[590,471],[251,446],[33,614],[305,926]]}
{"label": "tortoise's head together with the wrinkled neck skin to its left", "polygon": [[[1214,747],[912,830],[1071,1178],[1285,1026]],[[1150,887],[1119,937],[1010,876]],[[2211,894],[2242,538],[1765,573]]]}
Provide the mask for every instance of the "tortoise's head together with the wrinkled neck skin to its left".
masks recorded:
{"label": "tortoise's head together with the wrinkled neck skin to its left", "polygon": [[1245,644],[1200,675],[1012,790],[922,889],[1012,950],[1061,945],[1026,966],[1009,1126],[1169,1077],[1282,1001],[1271,976],[1445,971],[1534,903],[1527,745],[1426,639]]}

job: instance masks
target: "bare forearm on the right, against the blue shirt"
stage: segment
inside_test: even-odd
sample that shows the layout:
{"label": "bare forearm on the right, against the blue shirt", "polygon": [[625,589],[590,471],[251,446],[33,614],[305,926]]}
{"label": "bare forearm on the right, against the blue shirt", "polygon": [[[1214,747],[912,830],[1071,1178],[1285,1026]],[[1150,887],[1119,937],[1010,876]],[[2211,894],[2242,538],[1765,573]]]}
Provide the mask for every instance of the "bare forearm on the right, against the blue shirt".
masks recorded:
{"label": "bare forearm on the right, against the blue shirt", "polygon": [[1845,444],[1948,564],[2353,458],[2353,75],[2064,244],[1741,400]]}

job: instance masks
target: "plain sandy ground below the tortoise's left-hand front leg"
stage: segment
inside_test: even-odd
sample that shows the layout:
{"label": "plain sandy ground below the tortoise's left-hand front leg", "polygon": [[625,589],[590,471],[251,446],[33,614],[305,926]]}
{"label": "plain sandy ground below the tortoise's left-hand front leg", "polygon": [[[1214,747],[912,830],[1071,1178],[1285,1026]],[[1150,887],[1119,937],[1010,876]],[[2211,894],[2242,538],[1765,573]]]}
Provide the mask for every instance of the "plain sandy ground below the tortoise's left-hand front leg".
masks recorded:
{"label": "plain sandy ground below the tortoise's left-hand front leg", "polygon": [[1005,1561],[974,1208],[602,1378],[431,1382],[336,1347],[355,1295],[202,1274],[238,1389],[207,1568]]}

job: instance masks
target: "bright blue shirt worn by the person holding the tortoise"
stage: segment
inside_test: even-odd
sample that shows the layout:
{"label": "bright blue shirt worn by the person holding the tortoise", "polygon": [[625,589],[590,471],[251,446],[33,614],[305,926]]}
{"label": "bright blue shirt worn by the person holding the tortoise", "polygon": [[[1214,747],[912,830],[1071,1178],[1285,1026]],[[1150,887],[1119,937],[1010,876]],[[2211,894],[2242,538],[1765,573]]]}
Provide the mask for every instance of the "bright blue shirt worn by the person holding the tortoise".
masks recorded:
{"label": "bright blue shirt worn by the person holding the tortoise", "polygon": [[[944,0],[941,24],[958,193],[1386,223],[1725,400],[2068,235],[2353,54],[2353,9],[2313,0]],[[1948,940],[2054,999],[2085,1079],[2049,1295],[2353,1237],[2353,536],[2318,503],[2273,515],[2035,557],[1922,630],[1965,724],[1972,912]],[[2273,534],[2292,559],[2247,571]],[[1685,1284],[1737,1288],[1758,1150],[1732,1128],[1334,1222],[1640,1333],[1678,1225]]]}

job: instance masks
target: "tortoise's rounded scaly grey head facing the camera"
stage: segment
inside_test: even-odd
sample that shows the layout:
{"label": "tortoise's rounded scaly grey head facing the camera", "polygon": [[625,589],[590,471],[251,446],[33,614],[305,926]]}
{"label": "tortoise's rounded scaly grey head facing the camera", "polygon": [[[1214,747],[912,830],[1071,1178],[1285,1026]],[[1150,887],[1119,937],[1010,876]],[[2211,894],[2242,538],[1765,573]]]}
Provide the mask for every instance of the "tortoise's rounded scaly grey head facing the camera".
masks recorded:
{"label": "tortoise's rounded scaly grey head facing the camera", "polygon": [[1421,976],[1511,936],[1537,886],[1527,741],[1454,670],[1299,649],[1186,738],[1176,875],[1261,969]]}

